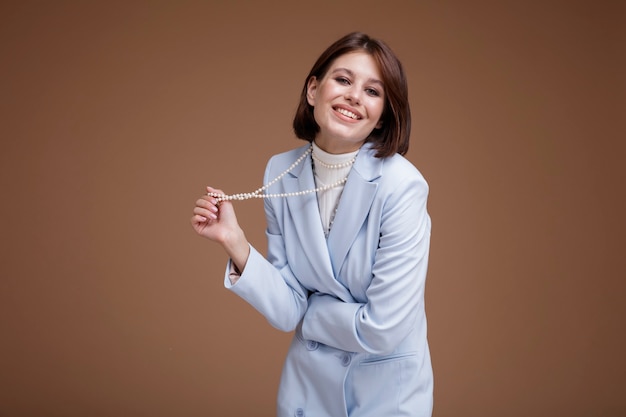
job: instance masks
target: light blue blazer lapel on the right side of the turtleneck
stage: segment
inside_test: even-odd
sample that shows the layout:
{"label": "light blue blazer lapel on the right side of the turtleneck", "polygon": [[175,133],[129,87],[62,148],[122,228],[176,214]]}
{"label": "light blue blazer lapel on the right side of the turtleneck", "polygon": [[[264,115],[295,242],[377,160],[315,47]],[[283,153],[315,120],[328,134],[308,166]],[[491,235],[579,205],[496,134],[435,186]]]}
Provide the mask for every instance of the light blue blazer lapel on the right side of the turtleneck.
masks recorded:
{"label": "light blue blazer lapel on the right side of the turtleneck", "polygon": [[363,145],[339,200],[328,235],[328,251],[335,274],[339,272],[376,195],[378,184],[373,180],[380,177],[383,160],[375,158],[374,152],[371,145]]}

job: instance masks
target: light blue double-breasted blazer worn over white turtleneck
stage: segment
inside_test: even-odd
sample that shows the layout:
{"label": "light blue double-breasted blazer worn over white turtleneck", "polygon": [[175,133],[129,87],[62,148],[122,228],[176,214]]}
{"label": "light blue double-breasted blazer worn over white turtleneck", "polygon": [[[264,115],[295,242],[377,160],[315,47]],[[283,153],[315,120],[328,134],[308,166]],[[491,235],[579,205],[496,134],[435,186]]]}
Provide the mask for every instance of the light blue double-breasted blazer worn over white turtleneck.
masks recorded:
{"label": "light blue double-breasted blazer worn over white turtleneck", "polygon": [[[307,146],[272,157],[264,183]],[[432,414],[424,310],[428,185],[402,156],[374,153],[369,144],[359,151],[328,238],[314,193],[265,200],[267,259],[251,247],[235,285],[227,266],[227,288],[274,327],[295,330],[279,417]],[[267,192],[314,188],[309,155]]]}

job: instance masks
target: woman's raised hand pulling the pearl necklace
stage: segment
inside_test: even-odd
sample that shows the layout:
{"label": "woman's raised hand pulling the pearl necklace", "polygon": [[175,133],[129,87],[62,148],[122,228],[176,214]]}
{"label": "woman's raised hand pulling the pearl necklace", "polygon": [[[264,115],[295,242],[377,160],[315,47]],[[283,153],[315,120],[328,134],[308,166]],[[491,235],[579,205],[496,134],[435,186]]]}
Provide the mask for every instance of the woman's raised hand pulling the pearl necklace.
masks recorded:
{"label": "woman's raised hand pulling the pearl necklace", "polygon": [[[224,194],[212,187],[207,187],[207,192]],[[243,271],[250,248],[230,201],[218,204],[215,197],[203,195],[196,201],[191,226],[200,236],[222,245],[237,268]]]}

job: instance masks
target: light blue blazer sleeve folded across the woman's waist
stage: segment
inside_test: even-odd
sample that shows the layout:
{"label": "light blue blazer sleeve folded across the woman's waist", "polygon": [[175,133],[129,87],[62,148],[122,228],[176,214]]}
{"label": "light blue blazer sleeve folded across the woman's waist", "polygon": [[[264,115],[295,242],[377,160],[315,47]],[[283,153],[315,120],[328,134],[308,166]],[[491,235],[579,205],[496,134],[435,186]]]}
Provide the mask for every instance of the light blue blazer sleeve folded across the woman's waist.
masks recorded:
{"label": "light blue blazer sleeve folded across the woman's waist", "polygon": [[399,183],[384,203],[367,301],[346,303],[328,294],[311,295],[302,325],[305,339],[350,352],[388,354],[418,320],[425,320],[428,185],[421,175]]}

